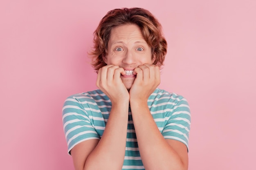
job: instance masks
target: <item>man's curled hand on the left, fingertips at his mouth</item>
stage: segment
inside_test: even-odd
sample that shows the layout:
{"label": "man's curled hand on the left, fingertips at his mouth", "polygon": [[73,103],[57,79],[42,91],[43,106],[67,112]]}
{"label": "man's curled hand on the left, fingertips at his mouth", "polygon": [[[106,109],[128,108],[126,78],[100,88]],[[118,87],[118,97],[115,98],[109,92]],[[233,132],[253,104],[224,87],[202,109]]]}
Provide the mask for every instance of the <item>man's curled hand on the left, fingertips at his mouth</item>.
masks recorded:
{"label": "man's curled hand on the left, fingertips at his mouth", "polygon": [[120,75],[125,75],[124,68],[115,65],[104,66],[98,72],[96,85],[110,98],[112,104],[129,101],[129,93]]}

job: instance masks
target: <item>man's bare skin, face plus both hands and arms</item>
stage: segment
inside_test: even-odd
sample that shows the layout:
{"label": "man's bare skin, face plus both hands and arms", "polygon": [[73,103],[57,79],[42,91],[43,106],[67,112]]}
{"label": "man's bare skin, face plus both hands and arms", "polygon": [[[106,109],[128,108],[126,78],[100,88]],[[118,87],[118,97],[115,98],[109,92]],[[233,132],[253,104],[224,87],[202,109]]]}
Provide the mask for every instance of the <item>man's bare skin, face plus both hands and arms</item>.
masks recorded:
{"label": "man's bare skin, face plus both hands and arms", "polygon": [[[128,24],[111,30],[104,58],[107,66],[99,69],[96,84],[110,98],[112,109],[101,140],[83,141],[71,150],[76,170],[121,170],[129,102],[145,169],[188,169],[186,146],[164,139],[148,109],[148,97],[160,83],[159,67],[153,60],[138,26]],[[132,75],[126,75],[126,70],[133,70]]]}

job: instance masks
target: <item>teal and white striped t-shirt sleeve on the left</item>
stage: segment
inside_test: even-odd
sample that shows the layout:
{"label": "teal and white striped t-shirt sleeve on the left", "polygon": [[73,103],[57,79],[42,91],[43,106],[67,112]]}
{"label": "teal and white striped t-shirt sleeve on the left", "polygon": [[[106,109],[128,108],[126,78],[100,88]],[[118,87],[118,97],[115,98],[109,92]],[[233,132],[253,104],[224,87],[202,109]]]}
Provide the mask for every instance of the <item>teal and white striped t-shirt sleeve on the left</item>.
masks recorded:
{"label": "teal and white striped t-shirt sleeve on the left", "polygon": [[68,97],[63,105],[62,121],[69,155],[76,144],[88,139],[100,139],[84,107],[74,96]]}

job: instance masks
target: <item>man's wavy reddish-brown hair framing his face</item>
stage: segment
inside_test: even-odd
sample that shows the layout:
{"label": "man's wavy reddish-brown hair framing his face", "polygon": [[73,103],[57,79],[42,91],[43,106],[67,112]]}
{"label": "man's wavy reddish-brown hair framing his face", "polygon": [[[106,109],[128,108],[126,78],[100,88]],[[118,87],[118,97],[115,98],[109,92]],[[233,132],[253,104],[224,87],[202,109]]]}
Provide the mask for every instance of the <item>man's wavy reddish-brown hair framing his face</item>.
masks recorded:
{"label": "man's wavy reddish-brown hair framing his face", "polygon": [[153,64],[159,67],[163,65],[167,52],[167,42],[162,35],[162,26],[158,20],[146,9],[142,8],[122,8],[109,11],[100,21],[99,26],[94,31],[94,48],[92,56],[92,66],[96,71],[106,66],[103,57],[108,55],[108,40],[111,29],[124,24],[136,24],[141,29],[141,33],[151,47]]}

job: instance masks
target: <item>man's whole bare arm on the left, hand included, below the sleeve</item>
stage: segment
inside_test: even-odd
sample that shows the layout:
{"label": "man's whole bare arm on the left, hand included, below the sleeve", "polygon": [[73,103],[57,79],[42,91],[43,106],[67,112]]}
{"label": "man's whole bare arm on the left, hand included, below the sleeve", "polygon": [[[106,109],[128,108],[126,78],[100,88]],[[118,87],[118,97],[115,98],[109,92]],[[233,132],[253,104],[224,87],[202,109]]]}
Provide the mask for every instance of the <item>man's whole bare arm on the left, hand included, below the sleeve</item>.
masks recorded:
{"label": "man's whole bare arm on the left, hand included, below the sleeve", "polygon": [[120,78],[120,73],[123,72],[123,68],[113,65],[99,70],[97,86],[110,98],[112,108],[101,139],[83,141],[71,150],[76,170],[120,170],[122,168],[129,105],[129,93]]}

